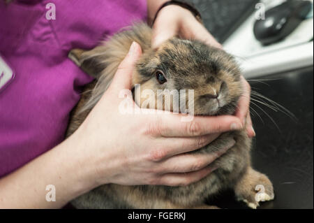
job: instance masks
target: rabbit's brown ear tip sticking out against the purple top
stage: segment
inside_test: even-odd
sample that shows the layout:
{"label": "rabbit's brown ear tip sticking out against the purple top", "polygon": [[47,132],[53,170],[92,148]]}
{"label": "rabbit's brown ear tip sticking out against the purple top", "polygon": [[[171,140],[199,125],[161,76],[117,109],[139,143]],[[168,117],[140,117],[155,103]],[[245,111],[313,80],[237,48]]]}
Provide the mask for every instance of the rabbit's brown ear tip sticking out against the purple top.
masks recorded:
{"label": "rabbit's brown ear tip sticking out against the purple top", "polygon": [[101,62],[101,57],[97,50],[73,49],[69,52],[70,58],[77,66],[94,78],[98,78],[99,74],[105,69],[105,64]]}

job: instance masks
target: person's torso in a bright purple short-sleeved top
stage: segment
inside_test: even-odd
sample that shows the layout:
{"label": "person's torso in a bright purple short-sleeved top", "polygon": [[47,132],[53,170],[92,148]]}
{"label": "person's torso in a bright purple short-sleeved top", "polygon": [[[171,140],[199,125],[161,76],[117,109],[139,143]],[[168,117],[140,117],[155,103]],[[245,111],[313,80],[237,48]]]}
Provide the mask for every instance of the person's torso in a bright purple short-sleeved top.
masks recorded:
{"label": "person's torso in a bright purple short-sleeved top", "polygon": [[70,111],[91,81],[68,52],[94,48],[147,15],[145,0],[48,3],[0,1],[0,57],[15,73],[0,89],[0,177],[63,141]]}

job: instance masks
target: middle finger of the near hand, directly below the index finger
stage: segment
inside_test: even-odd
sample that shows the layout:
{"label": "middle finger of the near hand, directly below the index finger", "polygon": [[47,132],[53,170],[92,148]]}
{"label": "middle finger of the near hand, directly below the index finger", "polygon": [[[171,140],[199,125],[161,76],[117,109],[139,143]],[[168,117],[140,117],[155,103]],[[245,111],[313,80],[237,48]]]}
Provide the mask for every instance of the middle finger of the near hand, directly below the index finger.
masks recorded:
{"label": "middle finger of the near hand, directly below the index finger", "polygon": [[184,154],[203,148],[213,142],[220,134],[197,136],[188,138],[160,138],[160,148],[151,151],[151,159],[160,161],[173,157],[177,154]]}

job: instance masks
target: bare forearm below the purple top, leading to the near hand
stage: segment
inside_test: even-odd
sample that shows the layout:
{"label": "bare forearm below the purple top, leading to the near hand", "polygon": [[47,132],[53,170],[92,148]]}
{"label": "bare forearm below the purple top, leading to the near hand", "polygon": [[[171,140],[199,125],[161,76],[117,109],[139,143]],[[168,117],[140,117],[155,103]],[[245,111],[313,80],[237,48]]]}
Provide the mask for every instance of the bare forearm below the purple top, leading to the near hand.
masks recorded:
{"label": "bare forearm below the purple top, leading to the near hand", "polygon": [[[0,208],[61,208],[96,187],[86,157],[72,142],[64,141],[0,179]],[[56,201],[46,201],[47,185],[54,185]]]}

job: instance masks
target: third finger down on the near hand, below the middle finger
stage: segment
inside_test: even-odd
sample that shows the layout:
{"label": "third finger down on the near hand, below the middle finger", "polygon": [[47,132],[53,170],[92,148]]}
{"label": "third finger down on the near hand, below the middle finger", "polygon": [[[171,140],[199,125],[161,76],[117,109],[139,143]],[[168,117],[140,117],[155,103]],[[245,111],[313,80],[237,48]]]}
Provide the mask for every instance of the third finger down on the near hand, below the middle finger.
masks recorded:
{"label": "third finger down on the near hand, below the middle finger", "polygon": [[209,166],[213,161],[221,157],[227,150],[232,148],[236,142],[228,142],[224,148],[216,152],[202,154],[181,154],[170,157],[158,164],[158,173],[188,173],[200,171],[202,168]]}

